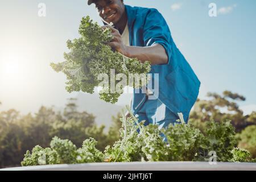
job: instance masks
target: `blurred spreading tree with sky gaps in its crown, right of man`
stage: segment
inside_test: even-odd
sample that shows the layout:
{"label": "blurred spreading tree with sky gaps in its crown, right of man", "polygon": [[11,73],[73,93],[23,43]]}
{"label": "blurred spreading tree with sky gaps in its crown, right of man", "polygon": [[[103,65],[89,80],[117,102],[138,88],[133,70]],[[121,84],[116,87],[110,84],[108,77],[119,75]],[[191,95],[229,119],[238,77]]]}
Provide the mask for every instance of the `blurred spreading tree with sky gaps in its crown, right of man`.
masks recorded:
{"label": "blurred spreading tree with sky gaps in its crown, right of man", "polygon": [[243,115],[237,102],[245,101],[245,97],[230,91],[224,91],[222,96],[217,93],[208,93],[209,100],[197,99],[195,108],[189,115],[193,125],[204,130],[205,121],[221,122],[231,120],[236,132],[240,132],[249,125],[256,124],[256,114]]}

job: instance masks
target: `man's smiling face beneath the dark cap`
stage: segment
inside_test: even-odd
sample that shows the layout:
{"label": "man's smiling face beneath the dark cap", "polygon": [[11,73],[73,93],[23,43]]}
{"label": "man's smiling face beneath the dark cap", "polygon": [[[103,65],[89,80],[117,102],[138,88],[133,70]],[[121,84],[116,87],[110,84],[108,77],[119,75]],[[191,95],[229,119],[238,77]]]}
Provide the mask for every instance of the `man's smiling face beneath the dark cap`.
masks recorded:
{"label": "man's smiling face beneath the dark cap", "polygon": [[116,24],[125,12],[125,6],[121,0],[96,0],[94,3],[101,18],[108,23]]}

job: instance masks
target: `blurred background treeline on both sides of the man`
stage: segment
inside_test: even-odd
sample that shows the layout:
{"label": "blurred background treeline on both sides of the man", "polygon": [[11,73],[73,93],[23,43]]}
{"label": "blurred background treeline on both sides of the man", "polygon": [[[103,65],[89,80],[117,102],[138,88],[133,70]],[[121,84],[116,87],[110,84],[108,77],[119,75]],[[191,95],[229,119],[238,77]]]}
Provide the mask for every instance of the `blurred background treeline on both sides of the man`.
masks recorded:
{"label": "blurred background treeline on both sides of the man", "polygon": [[[256,111],[243,115],[237,102],[245,101],[239,94],[225,91],[220,94],[208,93],[208,100],[197,100],[189,121],[203,133],[206,121],[221,122],[229,119],[236,129],[238,147],[249,150],[251,158],[256,158]],[[63,111],[42,106],[35,114],[21,115],[11,109],[0,112],[0,168],[20,166],[27,150],[36,145],[49,147],[55,136],[71,140],[77,147],[92,137],[98,141],[101,151],[119,139],[122,125],[119,118],[112,121],[108,132],[105,126],[97,126],[94,116],[86,111],[78,111],[76,100],[69,99]],[[109,122],[109,121],[106,121]]]}

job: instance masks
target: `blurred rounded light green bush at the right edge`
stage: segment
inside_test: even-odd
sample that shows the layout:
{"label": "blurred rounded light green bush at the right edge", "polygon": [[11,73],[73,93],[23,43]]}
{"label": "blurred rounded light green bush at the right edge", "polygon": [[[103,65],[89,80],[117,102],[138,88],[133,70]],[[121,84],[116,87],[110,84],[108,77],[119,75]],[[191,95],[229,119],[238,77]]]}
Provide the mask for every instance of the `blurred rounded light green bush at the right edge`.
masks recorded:
{"label": "blurred rounded light green bush at the right edge", "polygon": [[238,138],[238,147],[250,151],[251,157],[256,158],[256,125],[246,127],[238,134]]}

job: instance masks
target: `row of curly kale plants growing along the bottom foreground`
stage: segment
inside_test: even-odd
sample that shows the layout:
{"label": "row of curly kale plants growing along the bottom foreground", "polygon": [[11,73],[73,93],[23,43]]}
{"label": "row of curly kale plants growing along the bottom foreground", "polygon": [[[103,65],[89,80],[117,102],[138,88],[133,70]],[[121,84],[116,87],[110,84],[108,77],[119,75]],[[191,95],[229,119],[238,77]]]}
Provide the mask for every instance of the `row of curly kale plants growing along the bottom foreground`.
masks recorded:
{"label": "row of curly kale plants growing along the bottom foreground", "polygon": [[[129,109],[129,108],[127,108]],[[129,110],[130,111],[130,110]],[[130,111],[131,114],[131,111]],[[144,121],[131,114],[120,119],[122,128],[120,139],[107,146],[104,153],[96,148],[96,140],[86,139],[77,149],[70,140],[57,137],[51,141],[51,148],[36,146],[25,154],[23,166],[59,164],[59,163],[93,163],[93,162],[133,162],[133,161],[188,161],[206,160],[209,151],[215,151],[217,160],[222,162],[249,162],[250,152],[234,148],[237,144],[234,128],[229,121],[207,122],[205,134],[190,123],[170,124],[166,129],[157,125],[144,126]],[[139,132],[138,132],[139,131]],[[164,135],[167,142],[161,137]],[[44,161],[41,158],[44,155]],[[208,160],[208,159],[207,159]]]}

